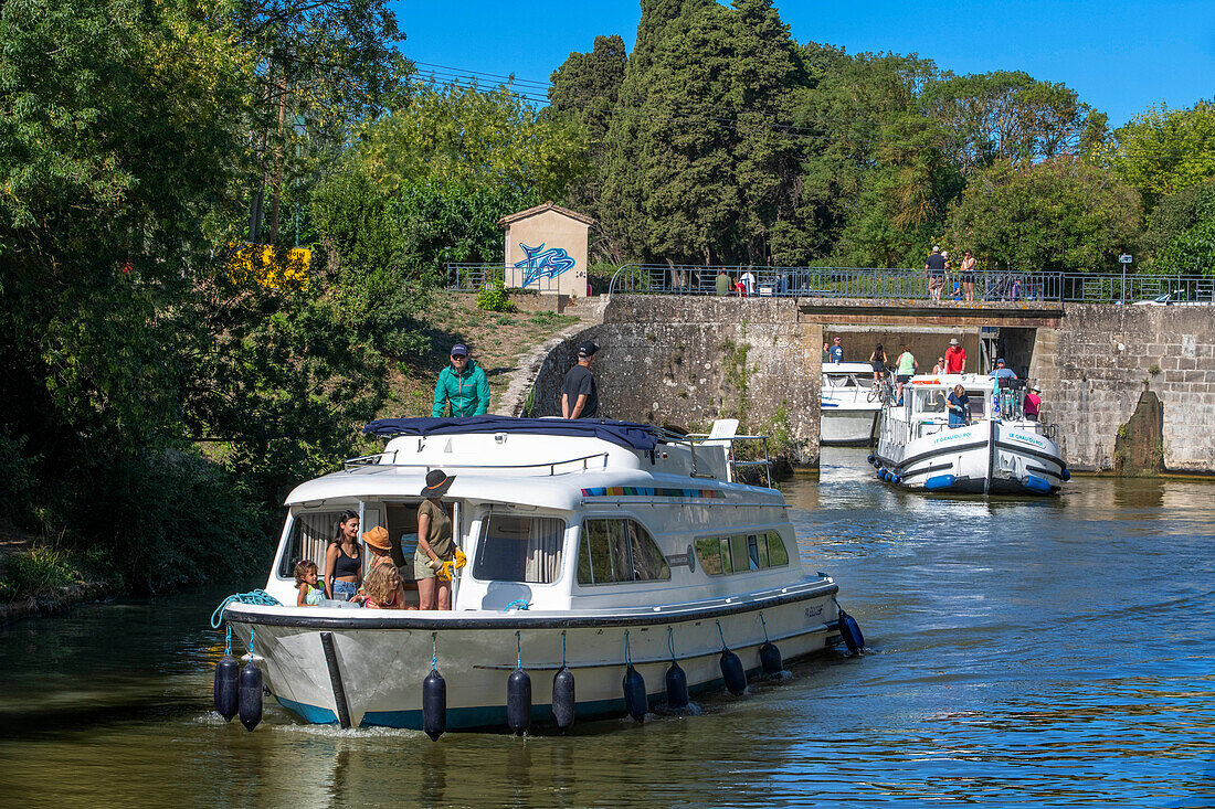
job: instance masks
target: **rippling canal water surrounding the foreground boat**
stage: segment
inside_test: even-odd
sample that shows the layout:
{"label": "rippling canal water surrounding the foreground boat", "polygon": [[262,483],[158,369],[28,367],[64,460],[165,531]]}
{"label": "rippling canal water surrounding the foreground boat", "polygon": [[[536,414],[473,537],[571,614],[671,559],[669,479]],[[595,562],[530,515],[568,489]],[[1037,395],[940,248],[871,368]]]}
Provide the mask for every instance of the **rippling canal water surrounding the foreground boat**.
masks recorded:
{"label": "rippling canal water surrounding the foreground boat", "polygon": [[[13,807],[1215,805],[1215,486],[1076,479],[916,497],[864,452],[784,485],[868,650],[699,715],[514,739],[209,713],[233,589],[0,630]],[[269,553],[269,551],[267,551]]]}

